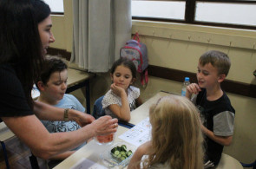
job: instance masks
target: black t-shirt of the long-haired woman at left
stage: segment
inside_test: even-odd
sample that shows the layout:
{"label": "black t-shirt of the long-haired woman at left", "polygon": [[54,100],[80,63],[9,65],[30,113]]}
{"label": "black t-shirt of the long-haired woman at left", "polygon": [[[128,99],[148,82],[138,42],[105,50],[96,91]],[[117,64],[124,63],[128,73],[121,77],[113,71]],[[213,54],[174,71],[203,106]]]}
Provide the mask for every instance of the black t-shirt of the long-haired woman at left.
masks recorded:
{"label": "black t-shirt of the long-haired woman at left", "polygon": [[31,115],[23,86],[10,64],[0,65],[0,118]]}

